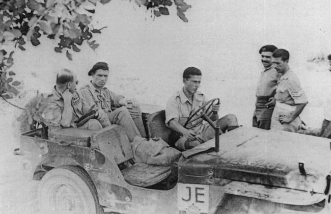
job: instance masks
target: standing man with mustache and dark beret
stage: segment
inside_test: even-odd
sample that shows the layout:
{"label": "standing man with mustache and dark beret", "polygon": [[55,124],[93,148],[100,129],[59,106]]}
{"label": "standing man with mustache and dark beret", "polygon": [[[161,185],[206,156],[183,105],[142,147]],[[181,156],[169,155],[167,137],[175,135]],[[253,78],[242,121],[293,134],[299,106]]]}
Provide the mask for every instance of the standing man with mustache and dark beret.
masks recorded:
{"label": "standing man with mustache and dark beret", "polygon": [[280,74],[272,67],[272,52],[277,49],[274,45],[265,45],[260,48],[261,62],[264,70],[261,72],[256,90],[255,111],[253,126],[270,129],[271,115],[273,112],[273,95]]}

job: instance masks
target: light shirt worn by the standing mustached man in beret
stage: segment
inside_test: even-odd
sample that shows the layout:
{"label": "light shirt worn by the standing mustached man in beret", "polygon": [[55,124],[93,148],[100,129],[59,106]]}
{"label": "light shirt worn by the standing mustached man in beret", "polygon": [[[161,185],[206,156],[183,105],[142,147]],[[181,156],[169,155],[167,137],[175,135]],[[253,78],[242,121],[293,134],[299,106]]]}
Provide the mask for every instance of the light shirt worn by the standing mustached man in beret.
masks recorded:
{"label": "light shirt worn by the standing mustached man in beret", "polygon": [[273,97],[277,86],[278,73],[272,66],[266,68],[260,76],[258,87],[256,89],[257,97]]}

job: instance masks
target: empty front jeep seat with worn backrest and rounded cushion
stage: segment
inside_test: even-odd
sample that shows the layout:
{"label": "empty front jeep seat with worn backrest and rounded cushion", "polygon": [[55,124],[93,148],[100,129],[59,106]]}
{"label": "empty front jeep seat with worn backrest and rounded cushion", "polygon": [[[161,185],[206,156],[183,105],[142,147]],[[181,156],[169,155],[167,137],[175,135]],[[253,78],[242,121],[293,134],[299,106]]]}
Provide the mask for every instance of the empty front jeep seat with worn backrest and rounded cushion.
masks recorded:
{"label": "empty front jeep seat with worn backrest and rounded cushion", "polygon": [[[111,125],[98,131],[92,137],[92,145],[116,164],[122,164],[133,158],[133,151],[125,129],[119,125]],[[151,186],[171,174],[170,167],[136,163],[122,171],[124,180],[136,186]]]}

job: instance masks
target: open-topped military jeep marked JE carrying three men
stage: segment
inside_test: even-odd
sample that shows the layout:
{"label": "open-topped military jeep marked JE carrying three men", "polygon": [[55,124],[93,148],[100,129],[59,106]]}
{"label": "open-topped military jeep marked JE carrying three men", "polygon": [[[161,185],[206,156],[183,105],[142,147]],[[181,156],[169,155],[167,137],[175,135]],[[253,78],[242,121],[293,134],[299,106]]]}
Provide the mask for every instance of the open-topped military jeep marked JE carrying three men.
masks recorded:
{"label": "open-topped military jeep marked JE carrying three men", "polygon": [[[142,110],[147,138],[174,146],[164,110]],[[124,128],[112,125],[51,134],[36,127],[21,134],[16,154],[40,180],[42,213],[331,213],[330,146],[239,127],[182,152],[174,166],[154,166],[135,163]]]}

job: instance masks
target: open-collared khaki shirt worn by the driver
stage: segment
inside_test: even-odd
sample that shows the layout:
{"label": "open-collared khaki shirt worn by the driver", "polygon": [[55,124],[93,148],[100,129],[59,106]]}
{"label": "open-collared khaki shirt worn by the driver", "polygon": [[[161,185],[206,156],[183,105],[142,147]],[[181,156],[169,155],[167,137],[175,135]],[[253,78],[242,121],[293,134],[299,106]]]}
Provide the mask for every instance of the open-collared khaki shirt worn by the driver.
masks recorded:
{"label": "open-collared khaki shirt worn by the driver", "polygon": [[[184,125],[186,119],[205,103],[206,98],[203,93],[197,91],[193,96],[193,102],[190,102],[184,94],[183,89],[179,90],[167,102],[166,125],[169,126],[169,121],[173,119],[179,122],[179,124]],[[202,111],[198,113],[198,116]],[[188,126],[200,126],[202,125],[202,121],[202,119],[196,120]]]}

